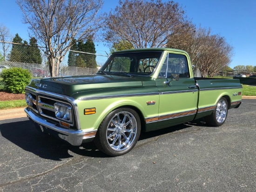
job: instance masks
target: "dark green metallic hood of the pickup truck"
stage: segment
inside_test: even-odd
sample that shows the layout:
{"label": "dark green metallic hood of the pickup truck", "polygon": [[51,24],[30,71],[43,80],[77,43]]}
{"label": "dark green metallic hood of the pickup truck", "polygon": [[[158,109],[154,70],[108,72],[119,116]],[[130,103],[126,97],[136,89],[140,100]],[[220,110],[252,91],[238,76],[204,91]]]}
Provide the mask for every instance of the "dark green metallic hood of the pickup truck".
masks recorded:
{"label": "dark green metallic hood of the pickup truck", "polygon": [[52,92],[71,96],[92,90],[142,87],[143,82],[147,86],[154,86],[155,81],[151,77],[124,77],[118,75],[88,75],[57,77],[45,79],[32,79],[29,86]]}

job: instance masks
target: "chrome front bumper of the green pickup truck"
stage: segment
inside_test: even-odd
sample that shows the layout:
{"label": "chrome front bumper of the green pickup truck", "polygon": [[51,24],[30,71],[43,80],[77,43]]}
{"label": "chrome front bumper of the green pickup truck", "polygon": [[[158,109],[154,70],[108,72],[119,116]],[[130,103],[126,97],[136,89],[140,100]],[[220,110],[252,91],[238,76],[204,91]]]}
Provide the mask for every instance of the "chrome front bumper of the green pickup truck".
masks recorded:
{"label": "chrome front bumper of the green pickup truck", "polygon": [[73,146],[80,146],[83,139],[85,139],[85,133],[82,130],[71,130],[56,126],[55,124],[47,122],[45,119],[35,115],[28,107],[25,109],[25,112],[27,113],[27,117],[34,121],[35,127],[41,132],[46,132],[63,139]]}

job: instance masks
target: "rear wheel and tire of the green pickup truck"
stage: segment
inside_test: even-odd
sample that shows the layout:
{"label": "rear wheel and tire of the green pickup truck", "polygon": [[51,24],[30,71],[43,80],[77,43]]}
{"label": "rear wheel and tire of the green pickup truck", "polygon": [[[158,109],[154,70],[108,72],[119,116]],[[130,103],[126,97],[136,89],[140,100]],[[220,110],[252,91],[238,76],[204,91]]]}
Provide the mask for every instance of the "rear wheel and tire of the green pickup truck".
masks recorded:
{"label": "rear wheel and tire of the green pickup truck", "polygon": [[218,101],[213,113],[204,117],[204,120],[210,126],[222,126],[227,119],[227,115],[228,101],[226,98],[222,97]]}

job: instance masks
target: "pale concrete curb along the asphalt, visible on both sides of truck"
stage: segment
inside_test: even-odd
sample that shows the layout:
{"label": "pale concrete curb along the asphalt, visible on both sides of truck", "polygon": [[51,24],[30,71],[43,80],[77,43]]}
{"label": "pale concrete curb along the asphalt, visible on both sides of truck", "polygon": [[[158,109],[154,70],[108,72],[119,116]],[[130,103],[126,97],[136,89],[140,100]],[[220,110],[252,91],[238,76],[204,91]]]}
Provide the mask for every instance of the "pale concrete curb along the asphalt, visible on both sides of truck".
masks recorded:
{"label": "pale concrete curb along the asphalt, visible on both sides of truck", "polygon": [[[256,99],[256,96],[242,96],[242,99]],[[27,117],[24,108],[2,109],[0,110],[0,120]]]}

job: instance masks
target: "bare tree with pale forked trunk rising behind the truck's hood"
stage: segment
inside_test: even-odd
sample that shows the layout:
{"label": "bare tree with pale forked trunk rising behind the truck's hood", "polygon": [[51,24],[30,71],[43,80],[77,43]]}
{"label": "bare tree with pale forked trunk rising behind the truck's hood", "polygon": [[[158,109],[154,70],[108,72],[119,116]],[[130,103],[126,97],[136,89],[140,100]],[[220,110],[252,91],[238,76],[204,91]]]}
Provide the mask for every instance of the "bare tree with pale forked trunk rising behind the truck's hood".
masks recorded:
{"label": "bare tree with pale forked trunk rising behind the truck's hood", "polygon": [[24,22],[38,44],[45,47],[51,76],[59,76],[60,63],[74,45],[100,28],[97,13],[102,0],[17,0]]}

